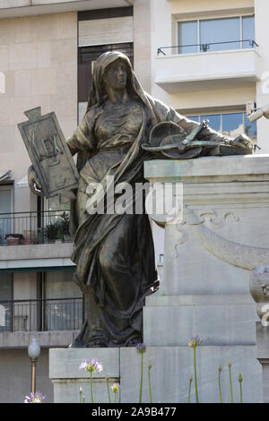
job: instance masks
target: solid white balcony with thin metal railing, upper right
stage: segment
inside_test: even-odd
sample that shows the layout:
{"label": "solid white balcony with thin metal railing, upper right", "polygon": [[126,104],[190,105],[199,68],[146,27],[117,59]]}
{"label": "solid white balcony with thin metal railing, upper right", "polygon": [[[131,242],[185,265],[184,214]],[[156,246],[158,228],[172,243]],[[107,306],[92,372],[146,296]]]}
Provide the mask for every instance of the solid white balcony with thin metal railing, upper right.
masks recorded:
{"label": "solid white balcony with thin metal railing, upper right", "polygon": [[[243,48],[242,45],[247,47]],[[182,54],[188,47],[195,46],[197,53]],[[255,83],[259,80],[259,55],[256,47],[256,42],[251,39],[159,47],[155,59],[154,82],[168,93],[223,89]]]}

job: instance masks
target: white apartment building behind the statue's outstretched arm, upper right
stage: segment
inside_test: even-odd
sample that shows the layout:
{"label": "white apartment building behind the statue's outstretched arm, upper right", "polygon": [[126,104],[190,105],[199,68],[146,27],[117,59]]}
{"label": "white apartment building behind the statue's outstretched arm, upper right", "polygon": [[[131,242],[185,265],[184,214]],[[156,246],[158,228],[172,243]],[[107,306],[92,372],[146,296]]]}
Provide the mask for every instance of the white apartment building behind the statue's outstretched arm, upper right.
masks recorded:
{"label": "white apartment building behind the statue's outstretched arm, upper right", "polygon": [[246,115],[247,103],[269,102],[268,10],[266,0],[153,1],[152,96],[218,132],[247,133],[256,152],[268,152],[268,122]]}

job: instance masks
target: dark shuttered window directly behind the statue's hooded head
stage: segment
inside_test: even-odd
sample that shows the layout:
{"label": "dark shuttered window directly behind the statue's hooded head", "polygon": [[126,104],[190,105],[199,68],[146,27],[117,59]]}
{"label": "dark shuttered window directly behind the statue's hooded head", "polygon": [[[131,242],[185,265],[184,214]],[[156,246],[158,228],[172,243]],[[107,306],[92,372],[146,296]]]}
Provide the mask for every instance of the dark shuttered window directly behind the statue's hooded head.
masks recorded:
{"label": "dark shuttered window directly behind the statue's hooded head", "polygon": [[94,62],[107,51],[120,51],[125,54],[134,65],[134,44],[126,42],[121,44],[106,44],[102,46],[79,47],[78,54],[78,101],[85,102],[89,98],[91,88],[91,73]]}

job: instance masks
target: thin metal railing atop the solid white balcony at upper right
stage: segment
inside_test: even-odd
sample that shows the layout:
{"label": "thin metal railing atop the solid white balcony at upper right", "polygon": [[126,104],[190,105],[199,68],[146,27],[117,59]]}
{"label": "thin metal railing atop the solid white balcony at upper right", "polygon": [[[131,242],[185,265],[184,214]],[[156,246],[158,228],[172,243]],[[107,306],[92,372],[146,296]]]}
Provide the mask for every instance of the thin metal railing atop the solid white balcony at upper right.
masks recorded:
{"label": "thin metal railing atop the solid white balcony at upper right", "polygon": [[[246,45],[247,43],[247,45]],[[255,48],[258,47],[256,41],[254,39],[239,39],[236,41],[221,41],[221,42],[208,42],[208,43],[201,43],[201,44],[187,44],[184,46],[171,46],[171,47],[159,47],[158,51],[157,51],[157,56],[160,56],[160,54],[162,54],[163,56],[167,56],[167,54],[163,51],[163,50],[168,50],[169,48],[171,49],[170,54],[187,54],[187,53],[183,53],[182,49],[183,48],[189,48],[189,47],[197,47],[197,51],[189,51],[190,54],[193,53],[207,53],[208,51],[211,50],[211,47],[213,46],[221,46],[224,45],[226,46],[226,44],[236,44],[236,46],[231,46],[233,48],[229,48],[227,46],[227,48],[223,49],[221,48],[221,51],[227,51],[229,49],[245,49],[245,48]],[[177,48],[175,51],[173,50],[173,48]],[[174,51],[174,52],[173,52]],[[218,49],[213,49],[212,51],[220,51]]]}

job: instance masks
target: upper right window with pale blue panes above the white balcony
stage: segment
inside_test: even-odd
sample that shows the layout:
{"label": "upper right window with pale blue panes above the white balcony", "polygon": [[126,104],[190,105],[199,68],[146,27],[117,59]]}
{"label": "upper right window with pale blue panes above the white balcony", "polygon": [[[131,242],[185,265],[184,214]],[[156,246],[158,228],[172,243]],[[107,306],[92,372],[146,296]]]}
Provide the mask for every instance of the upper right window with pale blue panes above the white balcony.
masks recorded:
{"label": "upper right window with pale blue panes above the white balcony", "polygon": [[252,48],[254,16],[178,21],[178,54]]}

